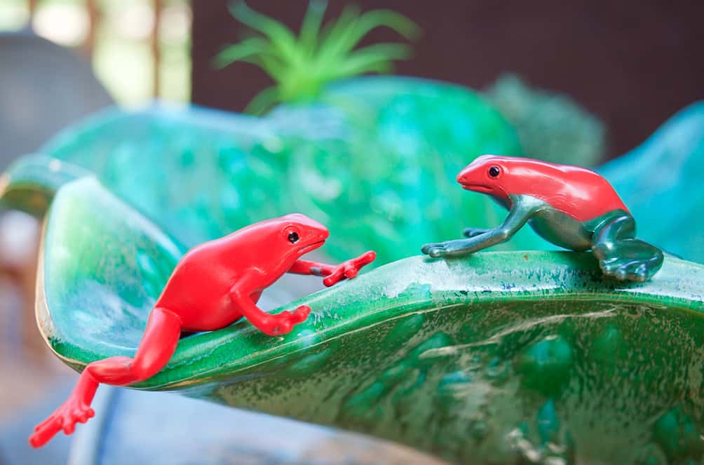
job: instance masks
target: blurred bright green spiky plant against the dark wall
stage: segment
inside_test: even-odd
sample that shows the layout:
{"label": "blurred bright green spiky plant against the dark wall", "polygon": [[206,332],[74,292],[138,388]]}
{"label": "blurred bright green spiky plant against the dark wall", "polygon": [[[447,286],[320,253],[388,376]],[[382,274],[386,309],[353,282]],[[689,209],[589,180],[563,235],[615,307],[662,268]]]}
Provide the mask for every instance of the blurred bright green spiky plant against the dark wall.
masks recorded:
{"label": "blurred bright green spiky plant against the dark wall", "polygon": [[262,114],[279,102],[310,101],[329,82],[364,73],[389,73],[392,61],[410,57],[407,44],[355,49],[377,27],[389,27],[407,39],[417,37],[419,27],[406,16],[390,10],[360,13],[357,6],[346,6],[337,20],[321,27],[326,7],[325,0],[311,0],[296,37],[288,27],[244,1],[231,6],[232,16],[259,34],[226,46],[215,58],[216,65],[252,63],[276,82],[252,99],[246,113]]}

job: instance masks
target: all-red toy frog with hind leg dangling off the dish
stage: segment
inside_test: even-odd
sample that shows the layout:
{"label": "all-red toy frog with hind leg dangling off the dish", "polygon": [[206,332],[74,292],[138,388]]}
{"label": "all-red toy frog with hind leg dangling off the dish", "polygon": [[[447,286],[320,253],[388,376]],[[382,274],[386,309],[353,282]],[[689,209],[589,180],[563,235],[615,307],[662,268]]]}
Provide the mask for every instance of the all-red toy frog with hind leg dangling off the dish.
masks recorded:
{"label": "all-red toy frog with hind leg dangling off the dish", "polygon": [[267,287],[284,273],[325,276],[332,286],[354,278],[375,259],[366,252],[338,266],[301,260],[325,243],[325,226],[301,214],[261,221],[201,244],[185,254],[149,314],[134,358],[114,356],[86,366],[70,397],[34,428],[30,444],[41,447],[58,431],[73,433],[75,423],[94,416],[90,404],[100,383],[130,385],[150,378],[175,352],[182,331],[224,328],[244,316],[268,335],[289,333],[306,320],[308,306],[268,314],[256,305]]}

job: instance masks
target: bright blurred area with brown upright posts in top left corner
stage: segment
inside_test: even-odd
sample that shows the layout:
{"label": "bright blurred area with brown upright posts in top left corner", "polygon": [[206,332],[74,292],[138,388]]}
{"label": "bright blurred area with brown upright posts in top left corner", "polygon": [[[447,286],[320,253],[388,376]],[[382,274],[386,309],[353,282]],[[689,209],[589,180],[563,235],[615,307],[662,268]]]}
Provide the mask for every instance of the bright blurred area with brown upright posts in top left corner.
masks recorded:
{"label": "bright blurred area with brown upright posts in top left corner", "polygon": [[190,99],[187,0],[1,0],[0,31],[27,27],[84,57],[120,105]]}

